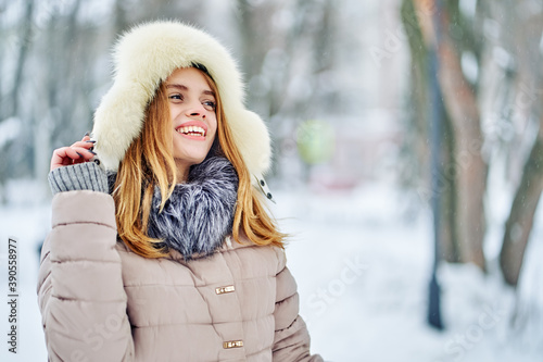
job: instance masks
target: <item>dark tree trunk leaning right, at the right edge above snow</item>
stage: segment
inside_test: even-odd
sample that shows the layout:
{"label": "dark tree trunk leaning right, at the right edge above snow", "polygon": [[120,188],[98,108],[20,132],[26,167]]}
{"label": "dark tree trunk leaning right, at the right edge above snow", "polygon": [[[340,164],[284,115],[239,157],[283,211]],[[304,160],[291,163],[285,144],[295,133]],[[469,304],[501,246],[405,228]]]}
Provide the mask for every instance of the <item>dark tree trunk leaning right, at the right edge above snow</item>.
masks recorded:
{"label": "dark tree trunk leaning right, at the right edge above snow", "polygon": [[[542,122],[543,125],[543,122]],[[522,179],[515,195],[500,253],[500,266],[505,282],[516,286],[530,238],[533,217],[543,191],[543,132],[533,143],[526,162]]]}

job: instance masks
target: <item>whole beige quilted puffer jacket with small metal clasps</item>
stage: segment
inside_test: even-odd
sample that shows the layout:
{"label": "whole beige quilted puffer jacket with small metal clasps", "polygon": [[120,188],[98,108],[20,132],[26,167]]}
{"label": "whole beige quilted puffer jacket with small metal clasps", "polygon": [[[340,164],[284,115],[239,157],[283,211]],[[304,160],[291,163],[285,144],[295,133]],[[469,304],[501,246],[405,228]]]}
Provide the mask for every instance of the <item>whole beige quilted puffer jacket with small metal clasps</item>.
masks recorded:
{"label": "whole beige quilted puffer jacket with small metal clasps", "polygon": [[321,361],[283,251],[247,241],[144,259],[117,240],[110,195],[56,194],[38,279],[50,361]]}

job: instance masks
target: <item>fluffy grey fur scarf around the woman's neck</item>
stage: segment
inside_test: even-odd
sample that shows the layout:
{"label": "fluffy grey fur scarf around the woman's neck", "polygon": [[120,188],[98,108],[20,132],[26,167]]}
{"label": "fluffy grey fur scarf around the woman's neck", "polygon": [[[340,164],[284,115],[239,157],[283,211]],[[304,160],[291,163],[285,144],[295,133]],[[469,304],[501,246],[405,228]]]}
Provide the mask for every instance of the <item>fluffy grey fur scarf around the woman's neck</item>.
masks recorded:
{"label": "fluffy grey fur scarf around the woman's neck", "polygon": [[149,236],[160,247],[180,252],[186,260],[212,254],[231,233],[238,196],[238,175],[225,158],[211,157],[192,166],[186,184],[175,186],[162,212],[156,187],[149,216]]}

